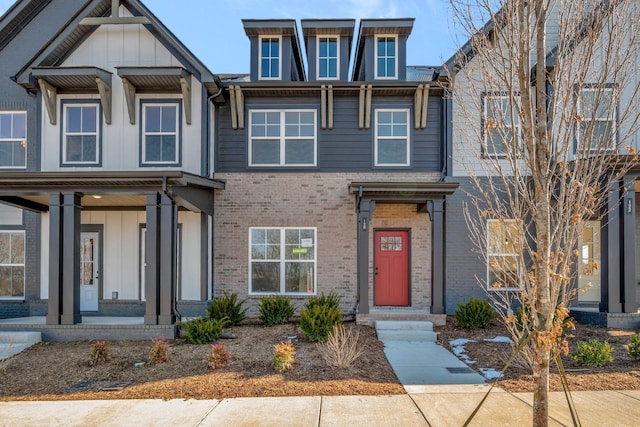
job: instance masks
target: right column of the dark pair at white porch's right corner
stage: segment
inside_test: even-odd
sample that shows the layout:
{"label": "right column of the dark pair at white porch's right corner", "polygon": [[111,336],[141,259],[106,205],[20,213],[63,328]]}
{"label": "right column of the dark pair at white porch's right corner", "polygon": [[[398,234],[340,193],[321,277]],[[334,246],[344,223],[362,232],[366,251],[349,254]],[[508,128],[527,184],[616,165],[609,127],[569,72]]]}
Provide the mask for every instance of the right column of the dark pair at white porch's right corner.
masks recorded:
{"label": "right column of the dark pair at white porch's right corner", "polygon": [[160,195],[160,245],[159,245],[159,285],[160,312],[159,325],[173,325],[173,308],[176,300],[176,234],[178,211],[176,203],[166,194]]}

